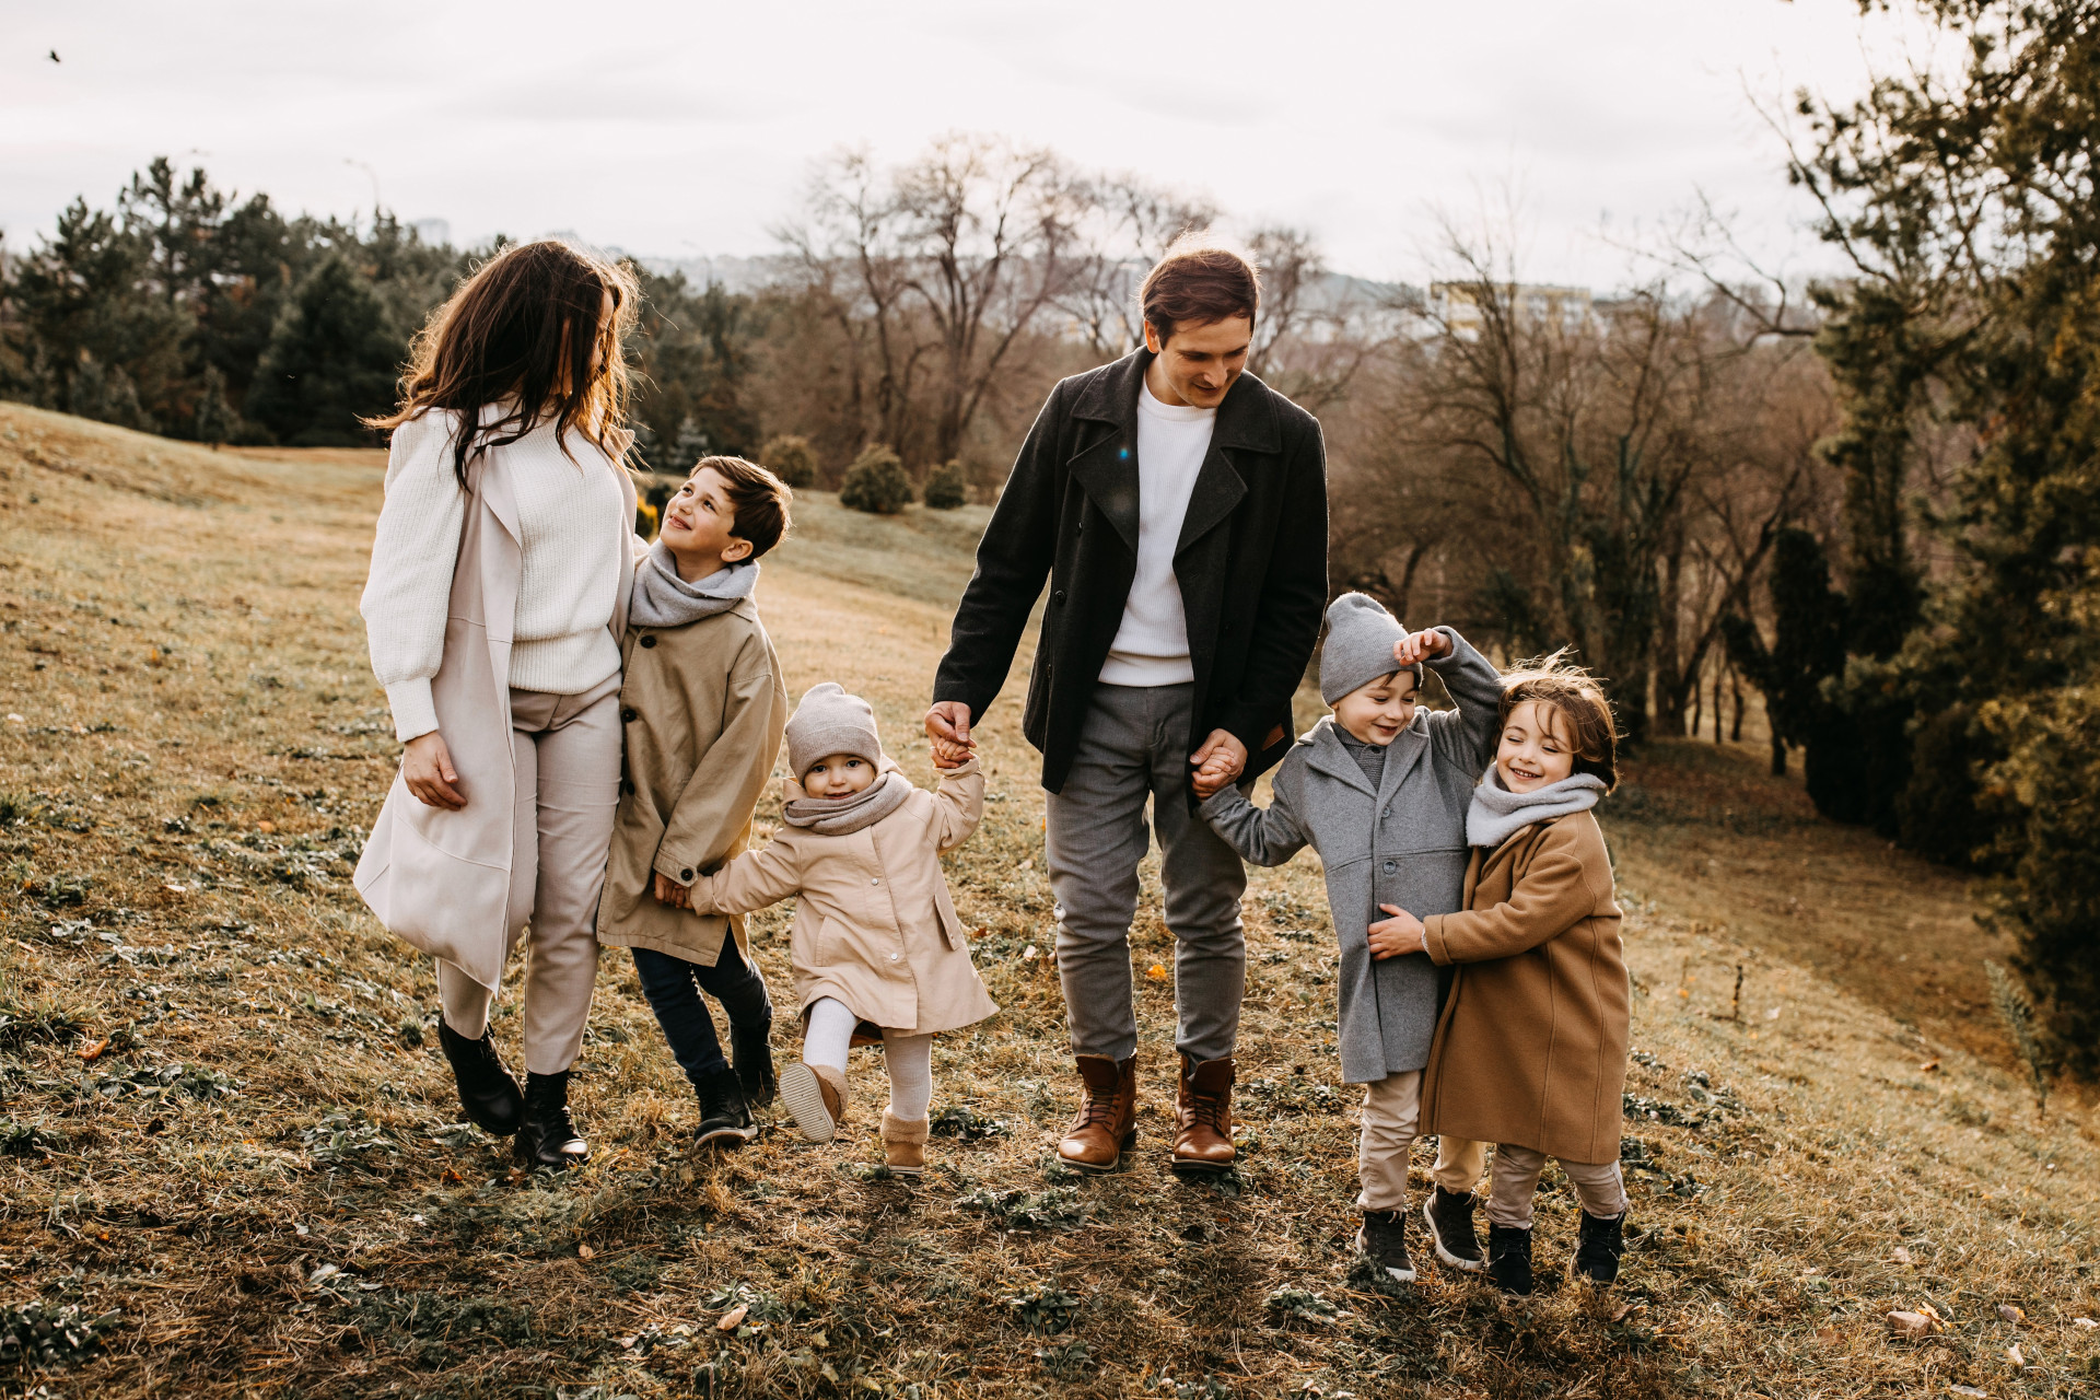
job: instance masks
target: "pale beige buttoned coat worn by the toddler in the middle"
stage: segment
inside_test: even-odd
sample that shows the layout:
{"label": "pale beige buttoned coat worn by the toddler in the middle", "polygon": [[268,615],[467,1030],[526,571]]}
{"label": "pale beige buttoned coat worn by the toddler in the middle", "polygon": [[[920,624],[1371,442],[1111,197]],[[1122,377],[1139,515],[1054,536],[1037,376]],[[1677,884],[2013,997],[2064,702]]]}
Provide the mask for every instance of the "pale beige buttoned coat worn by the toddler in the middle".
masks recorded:
{"label": "pale beige buttoned coat worn by the toddler in the middle", "polygon": [[846,835],[783,825],[773,842],[693,884],[699,913],[754,913],[794,896],[790,961],[798,1007],[834,997],[861,1020],[907,1035],[974,1024],[1000,1007],[941,875],[941,854],[985,816],[972,758],[911,789],[882,821]]}

